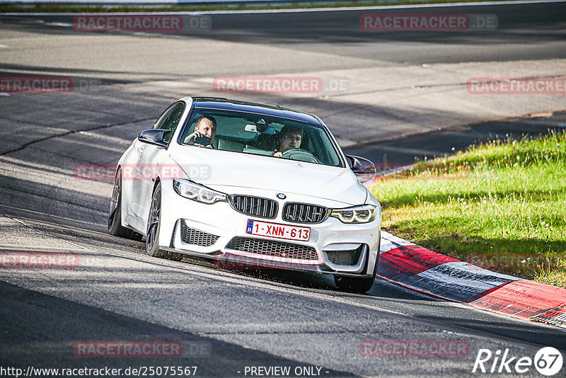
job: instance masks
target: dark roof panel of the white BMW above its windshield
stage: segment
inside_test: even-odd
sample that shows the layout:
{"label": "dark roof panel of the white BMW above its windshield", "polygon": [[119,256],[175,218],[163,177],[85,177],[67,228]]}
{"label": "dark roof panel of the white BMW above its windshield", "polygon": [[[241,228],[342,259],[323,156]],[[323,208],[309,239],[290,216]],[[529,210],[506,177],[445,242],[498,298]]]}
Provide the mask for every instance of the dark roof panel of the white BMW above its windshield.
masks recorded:
{"label": "dark roof panel of the white BMW above its windshield", "polygon": [[301,110],[285,108],[279,105],[250,103],[248,101],[229,100],[221,97],[192,97],[195,108],[209,108],[221,110],[235,110],[247,113],[256,113],[272,117],[290,118],[303,122],[321,125],[316,115],[301,112]]}

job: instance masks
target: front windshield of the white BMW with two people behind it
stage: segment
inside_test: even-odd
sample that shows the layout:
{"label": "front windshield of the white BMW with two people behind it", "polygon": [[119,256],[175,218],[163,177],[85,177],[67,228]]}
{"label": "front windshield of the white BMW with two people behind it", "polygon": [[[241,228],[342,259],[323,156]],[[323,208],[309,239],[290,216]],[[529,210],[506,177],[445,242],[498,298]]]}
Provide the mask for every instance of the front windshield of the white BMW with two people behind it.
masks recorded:
{"label": "front windshield of the white BMW with two people behind it", "polygon": [[[214,123],[215,132],[210,130]],[[221,151],[342,166],[323,127],[270,115],[195,108],[179,141]]]}

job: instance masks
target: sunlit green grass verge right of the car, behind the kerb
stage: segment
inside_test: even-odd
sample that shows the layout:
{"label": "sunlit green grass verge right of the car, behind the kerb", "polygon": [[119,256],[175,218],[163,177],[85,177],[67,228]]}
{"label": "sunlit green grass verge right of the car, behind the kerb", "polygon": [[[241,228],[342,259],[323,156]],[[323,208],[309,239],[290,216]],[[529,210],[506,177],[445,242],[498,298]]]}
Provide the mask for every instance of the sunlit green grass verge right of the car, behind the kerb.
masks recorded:
{"label": "sunlit green grass verge right of the car, behind the kerb", "polygon": [[474,265],[566,287],[566,132],[420,162],[372,193],[383,229]]}

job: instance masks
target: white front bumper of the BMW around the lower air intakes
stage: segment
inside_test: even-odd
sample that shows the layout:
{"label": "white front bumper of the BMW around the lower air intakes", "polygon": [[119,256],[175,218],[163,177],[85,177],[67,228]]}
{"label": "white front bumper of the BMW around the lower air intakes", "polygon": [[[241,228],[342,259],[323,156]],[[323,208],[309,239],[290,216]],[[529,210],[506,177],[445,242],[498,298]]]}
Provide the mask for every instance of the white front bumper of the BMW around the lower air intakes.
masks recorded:
{"label": "white front bumper of the BMW around the lower air intakes", "polygon": [[[164,184],[164,188],[171,185]],[[235,192],[270,198],[275,198],[276,194],[262,190],[250,193],[248,189],[241,193],[238,188]],[[218,268],[280,268],[356,277],[373,274],[379,258],[381,212],[376,214],[374,221],[366,224],[344,224],[334,217],[318,224],[303,224],[285,222],[280,210],[284,202],[313,203],[312,197],[288,195],[277,202],[277,217],[262,219],[241,214],[228,202],[206,205],[180,197],[172,188],[166,188],[161,199],[160,248],[212,258]],[[328,206],[325,203],[318,205]],[[308,241],[295,241],[250,235],[246,233],[248,220],[309,227],[311,236]],[[254,247],[249,248],[249,244]],[[258,253],[258,248],[265,253]]]}

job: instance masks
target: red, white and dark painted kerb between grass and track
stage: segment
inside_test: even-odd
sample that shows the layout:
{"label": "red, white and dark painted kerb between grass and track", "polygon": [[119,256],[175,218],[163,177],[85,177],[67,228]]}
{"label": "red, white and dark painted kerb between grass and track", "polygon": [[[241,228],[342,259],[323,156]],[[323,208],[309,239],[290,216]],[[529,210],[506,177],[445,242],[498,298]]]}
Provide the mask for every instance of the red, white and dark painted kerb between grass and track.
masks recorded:
{"label": "red, white and dark painted kerb between grass and track", "polygon": [[377,274],[434,297],[566,328],[566,289],[492,272],[386,231]]}

